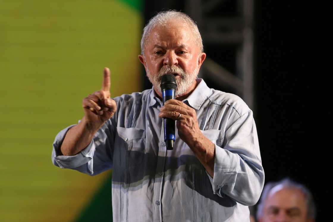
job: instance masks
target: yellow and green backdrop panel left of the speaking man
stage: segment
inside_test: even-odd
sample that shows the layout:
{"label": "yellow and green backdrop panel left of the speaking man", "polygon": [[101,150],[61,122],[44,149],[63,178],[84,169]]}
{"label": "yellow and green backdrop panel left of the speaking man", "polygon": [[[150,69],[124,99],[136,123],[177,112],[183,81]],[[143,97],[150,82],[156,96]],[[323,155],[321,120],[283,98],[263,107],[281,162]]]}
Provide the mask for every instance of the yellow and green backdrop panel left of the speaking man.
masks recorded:
{"label": "yellow and green backdrop panel left of the speaking man", "polygon": [[57,168],[52,143],[82,118],[104,67],[112,96],[141,91],[140,9],[140,1],[1,1],[0,221],[84,221],[105,192],[111,206],[111,171]]}

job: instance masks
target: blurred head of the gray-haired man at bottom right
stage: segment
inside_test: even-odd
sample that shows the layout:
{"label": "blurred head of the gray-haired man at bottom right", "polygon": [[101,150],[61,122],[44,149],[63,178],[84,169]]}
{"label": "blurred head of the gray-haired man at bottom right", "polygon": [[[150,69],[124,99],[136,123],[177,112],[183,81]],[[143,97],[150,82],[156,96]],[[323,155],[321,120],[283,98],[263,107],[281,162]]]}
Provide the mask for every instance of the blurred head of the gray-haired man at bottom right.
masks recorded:
{"label": "blurred head of the gray-haired man at bottom right", "polygon": [[257,208],[258,222],[314,222],[315,215],[310,191],[289,179],[266,184]]}

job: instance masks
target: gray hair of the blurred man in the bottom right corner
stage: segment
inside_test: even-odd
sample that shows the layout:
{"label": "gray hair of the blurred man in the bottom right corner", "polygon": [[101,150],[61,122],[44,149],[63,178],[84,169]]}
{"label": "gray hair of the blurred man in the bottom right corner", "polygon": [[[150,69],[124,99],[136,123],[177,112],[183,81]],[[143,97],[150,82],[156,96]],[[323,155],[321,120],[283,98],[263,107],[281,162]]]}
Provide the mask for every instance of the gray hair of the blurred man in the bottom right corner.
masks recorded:
{"label": "gray hair of the blurred man in the bottom right corner", "polygon": [[258,207],[257,207],[257,215],[256,215],[257,219],[259,219],[263,216],[264,204],[267,199],[267,196],[269,195],[270,191],[272,189],[276,188],[277,186],[281,186],[283,188],[292,188],[292,189],[300,190],[304,194],[304,197],[305,197],[305,204],[307,207],[307,218],[315,219],[316,206],[315,206],[311,192],[303,184],[296,183],[288,178],[285,178],[278,182],[270,182],[265,185],[265,187],[262,191],[261,197],[260,197]]}

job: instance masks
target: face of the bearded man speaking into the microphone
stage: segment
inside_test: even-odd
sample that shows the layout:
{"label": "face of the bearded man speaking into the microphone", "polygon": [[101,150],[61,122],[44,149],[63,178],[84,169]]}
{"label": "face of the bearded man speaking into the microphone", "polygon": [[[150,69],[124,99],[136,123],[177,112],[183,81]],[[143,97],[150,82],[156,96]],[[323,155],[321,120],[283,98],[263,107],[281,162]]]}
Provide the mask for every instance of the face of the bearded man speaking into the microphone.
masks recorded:
{"label": "face of the bearded man speaking into the microphone", "polygon": [[161,77],[166,73],[175,75],[176,96],[186,95],[195,88],[195,79],[206,55],[199,52],[186,24],[169,21],[164,26],[154,27],[147,43],[144,55],[139,55],[139,60],[144,64],[147,76],[160,96]]}

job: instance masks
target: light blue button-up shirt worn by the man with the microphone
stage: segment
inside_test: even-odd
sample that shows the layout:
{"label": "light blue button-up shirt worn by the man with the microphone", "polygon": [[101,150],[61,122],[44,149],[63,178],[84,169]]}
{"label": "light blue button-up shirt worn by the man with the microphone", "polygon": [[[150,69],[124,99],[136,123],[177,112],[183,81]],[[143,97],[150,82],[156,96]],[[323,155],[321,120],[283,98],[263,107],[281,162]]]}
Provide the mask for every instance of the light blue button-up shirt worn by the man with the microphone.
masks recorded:
{"label": "light blue button-up shirt worn by the man with the microphone", "polygon": [[75,156],[58,155],[68,129],[53,143],[52,162],[96,175],[113,168],[113,221],[249,221],[264,184],[252,111],[238,96],[210,89],[202,79],[183,102],[215,144],[214,177],[177,135],[166,150],[162,102],[153,89],[114,98],[116,114]]}

